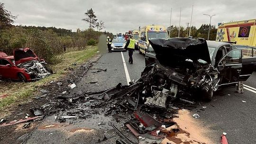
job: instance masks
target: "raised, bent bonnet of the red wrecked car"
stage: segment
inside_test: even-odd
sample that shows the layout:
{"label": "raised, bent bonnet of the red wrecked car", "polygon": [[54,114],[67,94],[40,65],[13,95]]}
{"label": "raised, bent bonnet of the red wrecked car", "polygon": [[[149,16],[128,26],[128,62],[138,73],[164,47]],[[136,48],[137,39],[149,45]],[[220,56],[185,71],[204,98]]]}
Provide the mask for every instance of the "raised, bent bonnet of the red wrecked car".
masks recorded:
{"label": "raised, bent bonnet of the red wrecked car", "polygon": [[25,63],[27,61],[39,60],[37,55],[30,48],[19,48],[13,51],[15,64]]}

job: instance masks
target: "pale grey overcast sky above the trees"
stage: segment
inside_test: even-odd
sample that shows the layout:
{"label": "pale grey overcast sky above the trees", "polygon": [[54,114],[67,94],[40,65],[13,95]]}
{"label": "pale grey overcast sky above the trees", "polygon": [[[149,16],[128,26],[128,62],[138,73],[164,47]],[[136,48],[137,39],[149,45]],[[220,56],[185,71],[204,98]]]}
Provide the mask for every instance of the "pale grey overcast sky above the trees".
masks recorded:
{"label": "pale grey overcast sky above the trees", "polygon": [[211,24],[256,18],[255,0],[1,0],[6,9],[17,15],[15,25],[45,26],[86,29],[89,24],[81,21],[87,9],[93,9],[97,18],[105,22],[106,31],[124,33],[145,25],[181,26],[190,22],[199,28]]}

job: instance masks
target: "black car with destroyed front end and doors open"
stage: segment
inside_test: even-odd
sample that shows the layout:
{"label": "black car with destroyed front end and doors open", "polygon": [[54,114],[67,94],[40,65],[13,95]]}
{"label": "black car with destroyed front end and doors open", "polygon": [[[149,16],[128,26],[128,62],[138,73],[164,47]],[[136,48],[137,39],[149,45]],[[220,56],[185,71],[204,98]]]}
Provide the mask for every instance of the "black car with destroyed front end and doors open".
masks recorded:
{"label": "black car with destroyed front end and doors open", "polygon": [[146,63],[151,64],[142,75],[151,73],[153,87],[162,86],[175,96],[201,94],[210,100],[219,86],[246,81],[256,63],[254,49],[248,46],[216,44],[202,38],[152,39],[149,43]]}

